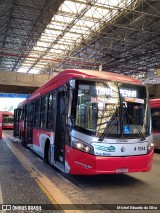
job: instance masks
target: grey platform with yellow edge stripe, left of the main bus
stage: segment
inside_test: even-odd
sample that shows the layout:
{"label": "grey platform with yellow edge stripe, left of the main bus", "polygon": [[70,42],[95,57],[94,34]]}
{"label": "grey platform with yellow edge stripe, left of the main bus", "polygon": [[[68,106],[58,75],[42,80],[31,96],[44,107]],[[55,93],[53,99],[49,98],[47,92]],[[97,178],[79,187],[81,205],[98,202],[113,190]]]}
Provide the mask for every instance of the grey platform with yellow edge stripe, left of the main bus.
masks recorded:
{"label": "grey platform with yellow edge stripe, left of the main bus", "polygon": [[59,171],[23,147],[9,130],[3,131],[0,140],[0,187],[1,204],[33,204],[44,212],[80,213],[74,204],[93,204]]}

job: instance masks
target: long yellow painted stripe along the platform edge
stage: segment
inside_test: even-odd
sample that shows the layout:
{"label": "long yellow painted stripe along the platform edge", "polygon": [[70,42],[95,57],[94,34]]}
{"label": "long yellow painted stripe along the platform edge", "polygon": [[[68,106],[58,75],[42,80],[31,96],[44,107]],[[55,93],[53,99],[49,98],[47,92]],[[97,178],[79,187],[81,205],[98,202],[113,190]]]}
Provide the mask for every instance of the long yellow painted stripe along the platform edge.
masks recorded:
{"label": "long yellow painted stripe along the platform edge", "polygon": [[[21,164],[26,168],[26,170],[32,175],[35,179],[41,190],[46,194],[48,199],[53,205],[58,204],[71,204],[73,208],[76,208],[74,204],[67,198],[62,191],[60,191],[54,183],[52,183],[43,173],[41,173],[6,137],[6,134],[3,134],[3,139],[6,144],[9,146],[11,151],[14,153],[16,158],[21,162]],[[63,208],[63,206],[62,206]],[[79,210],[63,210],[66,213],[81,213]]]}

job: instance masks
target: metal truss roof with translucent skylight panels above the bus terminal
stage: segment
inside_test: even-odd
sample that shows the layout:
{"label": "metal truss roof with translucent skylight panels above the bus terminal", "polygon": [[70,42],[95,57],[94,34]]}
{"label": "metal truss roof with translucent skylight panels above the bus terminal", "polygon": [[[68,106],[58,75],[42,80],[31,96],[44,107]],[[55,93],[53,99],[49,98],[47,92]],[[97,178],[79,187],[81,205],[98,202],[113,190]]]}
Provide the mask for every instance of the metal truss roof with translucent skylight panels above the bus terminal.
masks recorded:
{"label": "metal truss roof with translucent skylight panels above the bus terminal", "polygon": [[159,0],[0,0],[0,70],[66,68],[159,83]]}

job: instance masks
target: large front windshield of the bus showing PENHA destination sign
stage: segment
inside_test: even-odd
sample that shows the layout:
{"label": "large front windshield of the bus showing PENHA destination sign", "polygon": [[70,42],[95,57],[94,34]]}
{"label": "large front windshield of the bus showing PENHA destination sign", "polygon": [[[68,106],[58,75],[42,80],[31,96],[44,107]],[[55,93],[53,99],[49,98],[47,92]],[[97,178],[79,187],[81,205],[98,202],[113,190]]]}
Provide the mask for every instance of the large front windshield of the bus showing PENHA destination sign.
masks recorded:
{"label": "large front windshield of the bus showing PENHA destination sign", "polygon": [[75,128],[98,137],[135,138],[149,135],[145,86],[77,81]]}

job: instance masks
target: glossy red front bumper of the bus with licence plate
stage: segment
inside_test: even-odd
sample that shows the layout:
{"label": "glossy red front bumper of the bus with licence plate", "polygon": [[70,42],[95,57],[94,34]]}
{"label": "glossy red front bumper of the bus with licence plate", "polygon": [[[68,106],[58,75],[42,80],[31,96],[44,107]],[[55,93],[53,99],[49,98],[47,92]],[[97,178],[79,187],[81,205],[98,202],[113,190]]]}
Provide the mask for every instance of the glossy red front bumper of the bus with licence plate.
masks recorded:
{"label": "glossy red front bumper of the bus with licence plate", "polygon": [[151,170],[153,150],[147,155],[129,157],[93,156],[71,147],[66,147],[66,164],[71,174],[115,174],[147,172]]}

